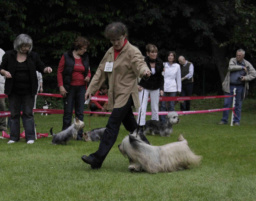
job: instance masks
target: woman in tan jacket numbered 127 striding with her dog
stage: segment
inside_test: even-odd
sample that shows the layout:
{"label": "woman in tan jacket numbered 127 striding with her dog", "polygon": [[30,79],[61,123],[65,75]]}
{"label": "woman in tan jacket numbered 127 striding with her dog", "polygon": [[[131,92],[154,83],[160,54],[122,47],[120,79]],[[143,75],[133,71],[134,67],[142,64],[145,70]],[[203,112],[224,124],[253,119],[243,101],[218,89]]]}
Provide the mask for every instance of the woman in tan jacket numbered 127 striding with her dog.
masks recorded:
{"label": "woman in tan jacket numbered 127 striding with her dog", "polygon": [[138,99],[137,77],[149,77],[151,71],[144,62],[142,53],[127,40],[127,28],[121,22],[109,24],[104,35],[113,44],[109,48],[85,94],[94,95],[105,79],[109,78],[109,102],[108,110],[112,110],[103,138],[100,141],[98,151],[89,156],[83,155],[82,160],[90,164],[93,169],[101,168],[101,165],[114,145],[123,123],[125,129],[133,132],[137,128],[131,106],[140,106]]}

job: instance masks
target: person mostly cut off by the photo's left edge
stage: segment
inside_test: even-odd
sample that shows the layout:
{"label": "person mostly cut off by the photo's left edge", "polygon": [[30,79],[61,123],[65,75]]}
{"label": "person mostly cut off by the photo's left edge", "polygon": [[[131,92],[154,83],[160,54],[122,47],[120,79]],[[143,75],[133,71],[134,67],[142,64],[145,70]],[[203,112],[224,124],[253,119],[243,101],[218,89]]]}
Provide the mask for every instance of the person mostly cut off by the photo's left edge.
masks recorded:
{"label": "person mostly cut off by the photo's left edge", "polygon": [[[0,48],[0,64],[2,63],[2,58],[5,51]],[[5,92],[5,76],[0,74],[0,94]],[[5,98],[0,98],[0,111],[5,111]],[[6,131],[6,117],[0,117],[0,131]]]}

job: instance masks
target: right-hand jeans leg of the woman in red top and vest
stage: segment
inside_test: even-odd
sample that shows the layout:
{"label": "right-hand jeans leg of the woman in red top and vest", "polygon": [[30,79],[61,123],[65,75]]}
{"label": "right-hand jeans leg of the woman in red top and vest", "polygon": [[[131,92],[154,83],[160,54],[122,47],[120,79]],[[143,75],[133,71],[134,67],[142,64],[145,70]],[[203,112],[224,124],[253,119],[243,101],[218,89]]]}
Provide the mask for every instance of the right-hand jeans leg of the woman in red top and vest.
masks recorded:
{"label": "right-hand jeans leg of the woman in red top and vest", "polygon": [[[75,95],[75,115],[76,117],[83,122],[83,111],[84,111],[84,102],[85,102],[85,86],[76,86],[76,95]],[[81,128],[77,132],[77,136],[83,137],[83,129]],[[78,140],[80,140],[77,137]]]}

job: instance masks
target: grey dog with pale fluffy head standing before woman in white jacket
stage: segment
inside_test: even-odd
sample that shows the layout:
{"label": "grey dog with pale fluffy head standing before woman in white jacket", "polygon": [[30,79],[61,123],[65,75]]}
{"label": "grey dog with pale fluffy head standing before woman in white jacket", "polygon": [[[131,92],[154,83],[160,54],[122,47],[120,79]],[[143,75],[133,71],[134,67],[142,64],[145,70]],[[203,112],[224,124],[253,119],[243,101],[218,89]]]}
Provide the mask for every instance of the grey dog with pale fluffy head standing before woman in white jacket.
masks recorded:
{"label": "grey dog with pale fluffy head standing before woman in white jacket", "polygon": [[180,122],[178,118],[178,113],[171,111],[166,116],[165,122],[160,122],[157,120],[148,120],[144,126],[143,134],[146,135],[148,132],[151,135],[155,133],[160,134],[160,136],[170,137],[170,133],[173,132],[172,126]]}

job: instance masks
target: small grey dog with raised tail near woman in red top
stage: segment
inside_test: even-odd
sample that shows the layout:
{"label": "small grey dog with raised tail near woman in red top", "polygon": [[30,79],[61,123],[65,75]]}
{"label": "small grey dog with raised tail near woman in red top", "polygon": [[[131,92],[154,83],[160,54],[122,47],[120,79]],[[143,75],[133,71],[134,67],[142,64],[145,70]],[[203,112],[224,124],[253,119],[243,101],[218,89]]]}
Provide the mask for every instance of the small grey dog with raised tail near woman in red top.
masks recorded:
{"label": "small grey dog with raised tail near woman in red top", "polygon": [[77,131],[84,127],[84,122],[80,121],[77,117],[74,119],[74,123],[57,134],[52,132],[53,127],[50,129],[50,133],[53,136],[52,144],[66,144],[71,138],[76,140]]}

